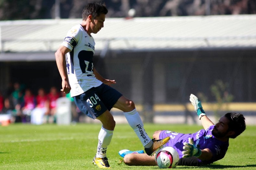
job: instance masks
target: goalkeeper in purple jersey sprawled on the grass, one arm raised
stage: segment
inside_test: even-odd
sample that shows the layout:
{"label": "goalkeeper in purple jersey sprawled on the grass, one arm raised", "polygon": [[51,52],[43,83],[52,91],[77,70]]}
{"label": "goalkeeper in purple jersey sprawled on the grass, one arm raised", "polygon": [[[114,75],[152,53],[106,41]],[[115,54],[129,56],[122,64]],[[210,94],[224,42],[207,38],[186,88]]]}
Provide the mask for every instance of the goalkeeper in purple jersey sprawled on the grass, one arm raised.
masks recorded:
{"label": "goalkeeper in purple jersey sprawled on the grass, one arm raised", "polygon": [[[179,165],[200,166],[211,164],[224,158],[229,146],[229,138],[236,138],[246,129],[245,118],[241,113],[226,113],[214,125],[205,115],[201,101],[195,95],[190,95],[190,101],[195,107],[204,129],[192,134],[158,130],[153,134],[153,138],[170,137],[166,146],[171,146],[177,150],[180,158]],[[119,155],[124,157],[125,164],[156,165],[152,156],[129,153],[131,151],[119,151]]]}

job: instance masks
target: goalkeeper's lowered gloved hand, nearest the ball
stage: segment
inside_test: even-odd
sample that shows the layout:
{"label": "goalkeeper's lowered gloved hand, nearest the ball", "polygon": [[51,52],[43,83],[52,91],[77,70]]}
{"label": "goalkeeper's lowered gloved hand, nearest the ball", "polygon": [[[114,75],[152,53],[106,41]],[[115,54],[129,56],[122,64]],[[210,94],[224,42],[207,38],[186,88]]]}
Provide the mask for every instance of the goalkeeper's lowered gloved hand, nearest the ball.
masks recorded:
{"label": "goalkeeper's lowered gloved hand, nearest the ball", "polygon": [[189,143],[184,142],[183,143],[183,149],[184,151],[182,151],[182,158],[188,158],[191,156],[195,156],[195,157],[199,157],[202,154],[202,151],[196,147],[196,145],[194,144],[194,141],[189,138]]}

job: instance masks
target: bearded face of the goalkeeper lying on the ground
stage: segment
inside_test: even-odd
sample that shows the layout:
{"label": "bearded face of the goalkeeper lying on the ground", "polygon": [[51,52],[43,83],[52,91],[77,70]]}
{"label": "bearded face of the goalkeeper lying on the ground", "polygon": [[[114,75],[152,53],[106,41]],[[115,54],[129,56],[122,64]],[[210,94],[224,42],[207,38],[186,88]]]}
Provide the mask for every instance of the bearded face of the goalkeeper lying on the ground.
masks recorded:
{"label": "bearded face of the goalkeeper lying on the ground", "polygon": [[219,122],[215,124],[212,134],[216,138],[226,137],[228,133],[228,122],[229,120],[223,116],[220,118]]}

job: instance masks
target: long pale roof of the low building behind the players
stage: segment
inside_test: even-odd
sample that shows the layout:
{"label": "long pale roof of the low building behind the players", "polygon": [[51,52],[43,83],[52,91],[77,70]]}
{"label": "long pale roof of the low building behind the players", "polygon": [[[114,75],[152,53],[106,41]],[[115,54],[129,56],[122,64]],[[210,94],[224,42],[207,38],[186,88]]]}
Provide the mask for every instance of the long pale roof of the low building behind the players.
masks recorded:
{"label": "long pale roof of the low building behind the players", "polygon": [[[55,60],[53,52],[67,31],[80,23],[81,19],[0,21],[0,61]],[[102,55],[107,50],[255,48],[255,28],[256,15],[106,18],[93,37]]]}

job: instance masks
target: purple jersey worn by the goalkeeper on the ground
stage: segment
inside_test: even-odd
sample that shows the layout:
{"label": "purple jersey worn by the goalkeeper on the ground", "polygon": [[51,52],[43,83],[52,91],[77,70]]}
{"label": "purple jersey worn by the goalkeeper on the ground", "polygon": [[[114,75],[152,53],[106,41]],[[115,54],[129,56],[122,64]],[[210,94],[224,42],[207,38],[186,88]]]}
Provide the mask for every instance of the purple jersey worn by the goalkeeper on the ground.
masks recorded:
{"label": "purple jersey worn by the goalkeeper on the ground", "polygon": [[189,142],[189,138],[193,139],[196,146],[199,146],[199,148],[205,149],[208,148],[211,150],[213,157],[209,161],[201,161],[198,159],[198,161],[202,164],[211,164],[217,160],[222,159],[228,148],[228,141],[222,142],[217,140],[212,135],[212,130],[214,128],[214,125],[210,126],[208,129],[199,130],[196,133],[192,134],[183,134],[183,133],[177,133],[174,131],[169,130],[163,130],[159,134],[159,139],[164,139],[165,137],[170,137],[169,142],[166,143],[166,146],[171,146],[177,150],[179,153],[179,158],[182,158],[182,151],[183,149],[183,142]]}

